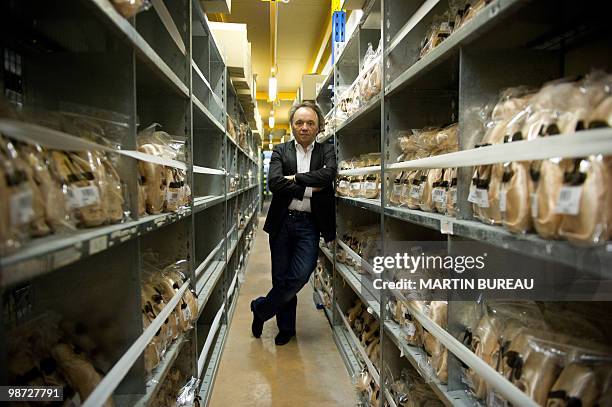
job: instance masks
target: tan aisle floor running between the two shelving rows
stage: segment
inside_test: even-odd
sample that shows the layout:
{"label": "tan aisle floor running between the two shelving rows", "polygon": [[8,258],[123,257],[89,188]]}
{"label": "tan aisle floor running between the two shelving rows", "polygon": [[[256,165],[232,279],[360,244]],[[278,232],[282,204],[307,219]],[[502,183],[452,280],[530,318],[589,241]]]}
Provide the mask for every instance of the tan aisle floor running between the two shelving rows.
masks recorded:
{"label": "tan aisle floor running between the two shelving rows", "polygon": [[312,300],[307,284],[298,295],[297,338],[276,346],[276,320],[263,335],[251,334],[251,300],[271,287],[268,234],[259,219],[246,280],[213,386],[210,405],[217,406],[354,406],[351,378],[338,353],[329,323]]}

